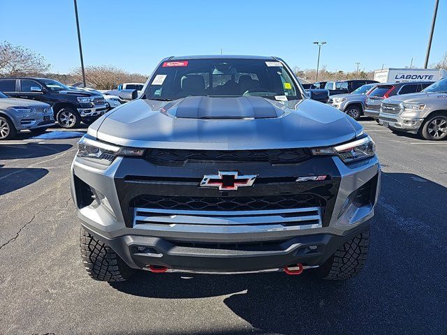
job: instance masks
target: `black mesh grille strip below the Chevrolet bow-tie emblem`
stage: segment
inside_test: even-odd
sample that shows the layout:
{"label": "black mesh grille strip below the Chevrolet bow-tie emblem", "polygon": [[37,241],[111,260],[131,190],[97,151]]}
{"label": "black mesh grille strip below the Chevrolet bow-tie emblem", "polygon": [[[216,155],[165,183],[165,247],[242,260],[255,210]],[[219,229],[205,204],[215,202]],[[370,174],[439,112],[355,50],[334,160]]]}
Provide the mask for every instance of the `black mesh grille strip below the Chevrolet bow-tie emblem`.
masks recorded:
{"label": "black mesh grille strip below the Chevrolet bow-tie emblem", "polygon": [[140,195],[131,201],[131,207],[149,209],[179,209],[192,211],[257,211],[266,209],[291,209],[321,207],[325,200],[315,195],[267,195],[256,197],[189,197]]}

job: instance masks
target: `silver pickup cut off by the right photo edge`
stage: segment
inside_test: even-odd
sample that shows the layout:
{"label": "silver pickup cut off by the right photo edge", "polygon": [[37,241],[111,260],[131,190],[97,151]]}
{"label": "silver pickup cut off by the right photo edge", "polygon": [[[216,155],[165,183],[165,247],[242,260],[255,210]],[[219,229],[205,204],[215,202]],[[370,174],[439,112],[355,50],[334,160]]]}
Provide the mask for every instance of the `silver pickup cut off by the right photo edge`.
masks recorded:
{"label": "silver pickup cut off by the right photo edge", "polygon": [[420,93],[382,101],[379,123],[393,131],[420,134],[425,140],[447,138],[447,79]]}

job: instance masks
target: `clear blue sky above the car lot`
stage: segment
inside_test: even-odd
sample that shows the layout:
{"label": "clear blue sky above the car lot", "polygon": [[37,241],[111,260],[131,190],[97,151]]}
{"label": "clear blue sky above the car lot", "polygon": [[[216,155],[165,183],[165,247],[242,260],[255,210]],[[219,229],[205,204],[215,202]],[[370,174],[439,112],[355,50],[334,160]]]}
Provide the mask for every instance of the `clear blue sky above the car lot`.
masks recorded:
{"label": "clear blue sky above the car lot", "polygon": [[[149,74],[182,54],[276,55],[316,68],[314,40],[325,40],[330,70],[423,66],[434,0],[143,1],[78,0],[85,65]],[[72,0],[0,0],[0,40],[41,53],[53,72],[79,66]],[[447,51],[441,0],[430,63]]]}

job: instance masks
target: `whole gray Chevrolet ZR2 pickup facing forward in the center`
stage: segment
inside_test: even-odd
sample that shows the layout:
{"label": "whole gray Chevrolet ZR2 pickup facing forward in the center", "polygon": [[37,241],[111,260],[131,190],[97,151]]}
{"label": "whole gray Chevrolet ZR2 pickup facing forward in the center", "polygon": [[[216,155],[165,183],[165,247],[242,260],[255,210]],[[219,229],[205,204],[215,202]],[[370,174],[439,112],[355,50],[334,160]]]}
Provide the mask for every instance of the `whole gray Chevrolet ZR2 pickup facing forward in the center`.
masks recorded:
{"label": "whole gray Chevrolet ZR2 pickup facing forward in the center", "polygon": [[99,281],[365,265],[381,167],[362,126],[276,57],[163,59],[91,124],[71,168],[82,260]]}

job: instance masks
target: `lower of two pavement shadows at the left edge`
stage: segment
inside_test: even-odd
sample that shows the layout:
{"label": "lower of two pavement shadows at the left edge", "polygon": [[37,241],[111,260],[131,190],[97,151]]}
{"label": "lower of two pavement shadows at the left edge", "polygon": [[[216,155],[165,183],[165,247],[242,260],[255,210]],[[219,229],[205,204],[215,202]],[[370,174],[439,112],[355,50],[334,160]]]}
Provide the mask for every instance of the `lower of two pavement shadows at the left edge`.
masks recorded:
{"label": "lower of two pavement shadows at the left edge", "polygon": [[47,169],[41,168],[1,168],[0,166],[0,195],[33,184],[45,177],[47,173]]}

